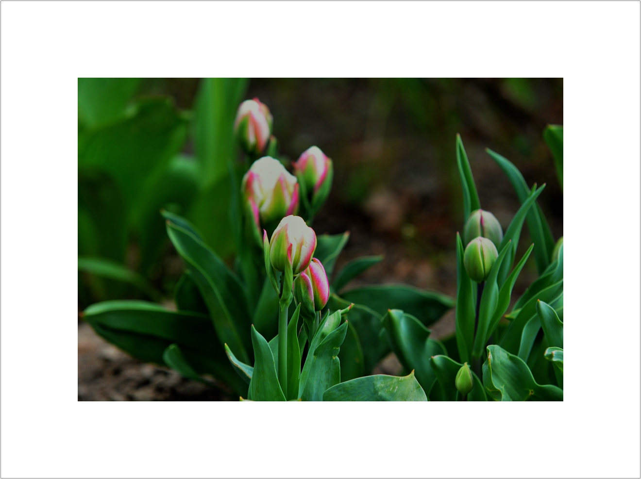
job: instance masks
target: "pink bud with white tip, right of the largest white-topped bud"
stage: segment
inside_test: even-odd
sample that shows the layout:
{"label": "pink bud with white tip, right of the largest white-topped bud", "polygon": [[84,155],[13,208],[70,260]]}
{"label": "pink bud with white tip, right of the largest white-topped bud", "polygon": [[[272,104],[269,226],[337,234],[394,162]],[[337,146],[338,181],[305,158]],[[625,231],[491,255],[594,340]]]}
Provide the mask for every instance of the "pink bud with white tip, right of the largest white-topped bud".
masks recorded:
{"label": "pink bud with white tip, right of the largest white-topped bud", "polygon": [[319,147],[311,147],[294,163],[294,174],[304,184],[308,197],[311,195],[312,207],[319,207],[331,190],[334,175],[331,159]]}

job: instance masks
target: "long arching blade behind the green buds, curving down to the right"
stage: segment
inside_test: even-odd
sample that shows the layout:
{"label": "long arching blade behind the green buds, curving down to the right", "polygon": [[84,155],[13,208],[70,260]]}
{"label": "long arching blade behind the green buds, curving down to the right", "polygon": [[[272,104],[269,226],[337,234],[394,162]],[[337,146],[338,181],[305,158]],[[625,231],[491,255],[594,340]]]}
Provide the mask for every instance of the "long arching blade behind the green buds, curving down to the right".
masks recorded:
{"label": "long arching blade behind the green buds, curving down to the right", "polygon": [[[490,149],[485,149],[485,151],[487,151],[487,154],[496,161],[501,167],[501,170],[507,175],[517,193],[517,197],[519,197],[520,203],[523,204],[528,199],[530,190],[523,175],[520,174],[519,169],[514,166],[510,160],[498,153]],[[529,236],[534,243],[534,256],[539,274],[544,272],[550,263],[550,255],[554,248],[554,241],[551,240],[552,232],[549,231],[549,225],[547,225],[547,222],[542,217],[543,213],[538,206],[537,208],[529,209],[527,216]]]}

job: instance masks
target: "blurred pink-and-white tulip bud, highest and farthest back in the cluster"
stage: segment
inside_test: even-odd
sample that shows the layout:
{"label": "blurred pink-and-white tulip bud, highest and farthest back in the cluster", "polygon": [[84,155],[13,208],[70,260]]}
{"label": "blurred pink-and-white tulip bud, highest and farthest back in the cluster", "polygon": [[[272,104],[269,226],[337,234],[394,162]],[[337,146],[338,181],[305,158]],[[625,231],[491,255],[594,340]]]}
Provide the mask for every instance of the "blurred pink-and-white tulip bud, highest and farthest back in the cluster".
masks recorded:
{"label": "blurred pink-and-white tulip bud, highest and farthest back in the cluster", "polygon": [[265,151],[273,122],[269,108],[258,98],[246,100],[238,106],[234,133],[242,148],[254,158]]}

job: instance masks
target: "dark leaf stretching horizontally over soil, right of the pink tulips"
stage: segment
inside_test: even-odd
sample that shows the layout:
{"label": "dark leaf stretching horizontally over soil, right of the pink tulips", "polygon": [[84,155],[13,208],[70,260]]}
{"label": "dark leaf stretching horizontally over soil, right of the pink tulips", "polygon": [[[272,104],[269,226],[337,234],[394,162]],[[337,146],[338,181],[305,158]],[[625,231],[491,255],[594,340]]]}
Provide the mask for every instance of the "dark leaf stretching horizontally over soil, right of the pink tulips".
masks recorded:
{"label": "dark leaf stretching horizontally over soil, right of the pink tulips", "polygon": [[454,306],[454,300],[449,296],[405,284],[364,286],[345,291],[341,297],[354,304],[365,305],[381,316],[387,313],[388,309],[402,309],[426,326],[431,325]]}

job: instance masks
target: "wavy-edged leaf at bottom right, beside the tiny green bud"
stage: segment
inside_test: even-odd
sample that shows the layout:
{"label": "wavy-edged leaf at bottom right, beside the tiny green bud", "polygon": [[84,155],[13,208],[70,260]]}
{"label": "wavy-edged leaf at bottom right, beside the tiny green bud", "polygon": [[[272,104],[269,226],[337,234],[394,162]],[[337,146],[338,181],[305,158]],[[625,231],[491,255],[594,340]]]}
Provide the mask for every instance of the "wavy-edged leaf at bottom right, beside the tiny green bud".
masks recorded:
{"label": "wavy-edged leaf at bottom right, beside the tiny green bud", "polygon": [[501,346],[487,346],[483,386],[495,401],[563,401],[563,389],[535,382],[528,365]]}

